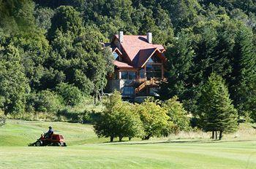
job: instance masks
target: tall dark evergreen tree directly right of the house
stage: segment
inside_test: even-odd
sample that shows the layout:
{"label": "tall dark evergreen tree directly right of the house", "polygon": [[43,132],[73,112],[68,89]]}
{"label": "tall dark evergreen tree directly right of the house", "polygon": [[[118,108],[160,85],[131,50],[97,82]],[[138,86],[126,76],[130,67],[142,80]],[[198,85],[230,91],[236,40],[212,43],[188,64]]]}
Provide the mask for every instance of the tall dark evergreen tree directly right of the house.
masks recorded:
{"label": "tall dark evergreen tree directly right of the house", "polygon": [[[181,101],[187,100],[191,102],[195,98],[195,84],[192,78],[192,68],[195,65],[195,50],[192,46],[193,34],[181,32],[176,39],[173,39],[173,44],[167,47],[165,54],[167,58],[167,82],[160,84],[159,95],[162,100],[167,100],[175,95]],[[189,101],[191,100],[191,101]],[[194,101],[195,102],[195,101]],[[188,105],[188,106],[187,106]],[[191,103],[185,106],[192,107]],[[190,108],[189,111],[194,109]]]}

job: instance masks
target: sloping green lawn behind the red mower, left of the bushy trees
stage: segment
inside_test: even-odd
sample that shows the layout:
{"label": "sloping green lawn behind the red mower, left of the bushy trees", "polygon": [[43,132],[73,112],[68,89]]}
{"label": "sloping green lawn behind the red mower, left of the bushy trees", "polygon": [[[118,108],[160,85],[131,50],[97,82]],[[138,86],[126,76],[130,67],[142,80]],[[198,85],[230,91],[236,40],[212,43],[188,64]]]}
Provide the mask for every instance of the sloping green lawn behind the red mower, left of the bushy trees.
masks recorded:
{"label": "sloping green lawn behind the red mower, left of the bushy trees", "polygon": [[43,132],[47,132],[49,126],[52,126],[56,133],[64,135],[69,146],[108,141],[107,138],[98,138],[91,125],[7,120],[7,124],[0,127],[0,146],[27,146],[37,141]]}

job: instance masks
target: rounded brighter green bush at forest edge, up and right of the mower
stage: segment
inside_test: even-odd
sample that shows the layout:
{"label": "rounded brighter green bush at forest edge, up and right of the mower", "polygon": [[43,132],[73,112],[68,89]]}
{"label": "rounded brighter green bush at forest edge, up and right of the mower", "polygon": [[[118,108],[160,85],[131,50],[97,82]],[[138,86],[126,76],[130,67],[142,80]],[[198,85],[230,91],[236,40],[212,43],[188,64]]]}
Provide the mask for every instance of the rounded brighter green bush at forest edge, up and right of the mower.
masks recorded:
{"label": "rounded brighter green bush at forest edge, up and right of the mower", "polygon": [[62,96],[66,106],[75,106],[82,101],[82,93],[71,84],[61,83],[56,87],[57,93]]}

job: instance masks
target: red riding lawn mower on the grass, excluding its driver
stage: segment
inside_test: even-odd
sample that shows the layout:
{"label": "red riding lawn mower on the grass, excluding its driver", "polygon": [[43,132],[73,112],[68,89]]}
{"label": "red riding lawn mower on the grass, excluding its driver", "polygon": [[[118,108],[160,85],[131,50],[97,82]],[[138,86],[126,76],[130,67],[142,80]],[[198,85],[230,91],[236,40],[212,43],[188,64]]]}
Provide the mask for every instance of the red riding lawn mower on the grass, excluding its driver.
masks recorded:
{"label": "red riding lawn mower on the grass, excluding its driver", "polygon": [[67,144],[64,141],[63,135],[53,134],[49,137],[45,137],[45,135],[42,134],[36,142],[29,144],[29,146],[67,146]]}

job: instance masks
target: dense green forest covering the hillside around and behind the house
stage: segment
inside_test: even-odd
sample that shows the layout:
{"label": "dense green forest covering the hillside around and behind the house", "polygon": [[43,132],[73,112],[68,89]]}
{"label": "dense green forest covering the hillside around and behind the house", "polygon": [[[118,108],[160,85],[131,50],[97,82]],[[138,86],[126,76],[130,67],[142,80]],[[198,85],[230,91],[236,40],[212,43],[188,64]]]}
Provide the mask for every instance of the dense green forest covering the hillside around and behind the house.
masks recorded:
{"label": "dense green forest covering the hillside around and behind the house", "polygon": [[203,84],[222,76],[241,117],[256,119],[254,0],[2,0],[0,109],[56,111],[99,99],[113,71],[113,34],[153,33],[168,80],[160,98],[178,96],[200,116]]}

